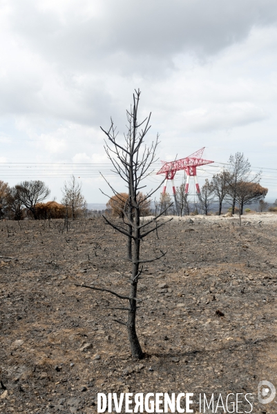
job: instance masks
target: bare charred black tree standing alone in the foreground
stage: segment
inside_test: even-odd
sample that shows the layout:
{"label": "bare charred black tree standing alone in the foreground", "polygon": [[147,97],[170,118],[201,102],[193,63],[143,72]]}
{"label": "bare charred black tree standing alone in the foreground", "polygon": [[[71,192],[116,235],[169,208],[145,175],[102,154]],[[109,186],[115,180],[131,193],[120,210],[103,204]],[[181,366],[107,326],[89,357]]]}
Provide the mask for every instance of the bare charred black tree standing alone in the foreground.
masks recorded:
{"label": "bare charred black tree standing alone in the foreground", "polygon": [[131,354],[137,359],[142,359],[143,352],[140,346],[139,339],[136,333],[136,312],[137,302],[140,299],[137,298],[137,283],[142,277],[144,271],[144,263],[153,262],[166,254],[160,250],[159,255],[151,258],[141,258],[140,247],[144,237],[147,237],[153,231],[157,231],[157,228],[164,226],[167,221],[160,221],[159,217],[164,213],[164,210],[153,219],[149,221],[140,221],[140,213],[145,205],[146,200],[150,200],[155,190],[149,191],[144,197],[140,197],[140,190],[144,188],[142,181],[148,177],[153,170],[151,167],[156,161],[155,151],[157,148],[158,135],[151,143],[151,146],[147,147],[144,144],[144,138],[151,126],[149,125],[150,117],[146,117],[144,121],[139,122],[137,120],[137,110],[140,101],[140,90],[135,91],[133,94],[133,106],[130,111],[126,111],[128,120],[128,130],[124,134],[124,140],[117,139],[116,128],[111,120],[111,127],[108,130],[103,130],[106,134],[107,140],[105,141],[105,150],[108,158],[114,167],[114,172],[125,182],[126,188],[128,188],[128,198],[122,207],[122,201],[120,199],[120,193],[107,182],[108,186],[113,191],[115,200],[118,197],[118,208],[122,211],[122,223],[112,222],[110,218],[104,217],[106,224],[111,226],[119,233],[122,233],[127,238],[127,255],[124,257],[131,264],[131,277],[128,277],[129,293],[128,295],[121,295],[115,291],[102,288],[101,286],[86,286],[84,284],[77,285],[95,290],[102,290],[104,292],[111,293],[119,299],[128,301],[128,307],[117,307],[117,309],[128,311],[127,321],[124,322],[119,319],[113,319],[115,322],[123,324],[127,328],[128,340],[131,347]]}

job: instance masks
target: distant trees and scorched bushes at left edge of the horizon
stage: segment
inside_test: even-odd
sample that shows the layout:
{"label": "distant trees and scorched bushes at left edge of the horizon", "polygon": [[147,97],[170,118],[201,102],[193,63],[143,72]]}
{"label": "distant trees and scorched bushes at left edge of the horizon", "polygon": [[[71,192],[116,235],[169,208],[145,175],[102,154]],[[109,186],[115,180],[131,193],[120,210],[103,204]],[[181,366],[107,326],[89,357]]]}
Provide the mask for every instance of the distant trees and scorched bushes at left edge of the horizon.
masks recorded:
{"label": "distant trees and scorched bushes at left edge of the horizon", "polygon": [[43,181],[21,181],[14,187],[0,180],[0,219],[76,219],[86,213],[86,200],[82,195],[82,184],[74,176],[61,189],[61,203],[43,201],[50,195]]}

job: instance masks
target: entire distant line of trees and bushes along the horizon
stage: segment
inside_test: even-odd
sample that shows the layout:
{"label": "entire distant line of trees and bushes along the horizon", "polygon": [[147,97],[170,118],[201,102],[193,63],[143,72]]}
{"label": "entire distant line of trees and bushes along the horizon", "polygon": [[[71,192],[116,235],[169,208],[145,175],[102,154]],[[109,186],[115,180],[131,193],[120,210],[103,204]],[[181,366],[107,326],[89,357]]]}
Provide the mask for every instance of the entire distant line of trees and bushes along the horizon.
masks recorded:
{"label": "entire distant line of trees and bushes along the horizon", "polygon": [[[52,200],[43,201],[50,195],[48,186],[43,181],[22,181],[14,187],[8,186],[0,180],[0,219],[8,218],[21,220],[26,217],[31,219],[76,219],[79,215],[88,215],[86,200],[82,195],[82,184],[70,177],[61,188],[63,197],[61,203]],[[223,203],[230,205],[232,214],[243,214],[243,208],[253,203],[258,203],[259,211],[276,211],[277,200],[273,206],[265,201],[268,189],[260,185],[260,172],[251,175],[251,165],[241,152],[229,157],[227,168],[213,175],[212,179],[206,179],[201,188],[201,197],[196,204],[189,202],[189,194],[185,193],[184,182],[176,187],[176,200],[178,212],[181,216],[198,214],[202,212],[208,215],[215,203],[218,203],[218,215],[222,214]],[[160,195],[159,201],[145,199],[143,193],[137,194],[140,201],[140,213],[142,216],[150,215],[164,210],[167,215],[175,214],[169,193]],[[122,217],[126,203],[127,193],[113,195],[106,204],[105,213]],[[153,207],[154,206],[154,207]],[[104,213],[104,212],[102,212]],[[94,212],[95,214],[95,212]]]}

